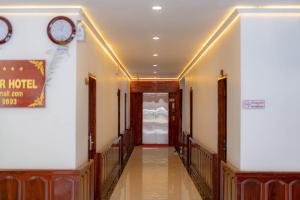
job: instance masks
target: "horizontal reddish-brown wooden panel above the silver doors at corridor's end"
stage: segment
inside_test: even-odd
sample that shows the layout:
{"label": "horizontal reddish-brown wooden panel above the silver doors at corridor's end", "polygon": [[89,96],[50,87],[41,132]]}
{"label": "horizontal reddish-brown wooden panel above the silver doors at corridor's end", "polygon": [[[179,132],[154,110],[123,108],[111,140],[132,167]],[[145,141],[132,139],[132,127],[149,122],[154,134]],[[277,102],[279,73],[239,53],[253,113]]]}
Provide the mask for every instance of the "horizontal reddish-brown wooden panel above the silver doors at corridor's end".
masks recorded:
{"label": "horizontal reddish-brown wooden panel above the silver doors at corridor's end", "polygon": [[179,81],[130,81],[131,93],[178,91]]}

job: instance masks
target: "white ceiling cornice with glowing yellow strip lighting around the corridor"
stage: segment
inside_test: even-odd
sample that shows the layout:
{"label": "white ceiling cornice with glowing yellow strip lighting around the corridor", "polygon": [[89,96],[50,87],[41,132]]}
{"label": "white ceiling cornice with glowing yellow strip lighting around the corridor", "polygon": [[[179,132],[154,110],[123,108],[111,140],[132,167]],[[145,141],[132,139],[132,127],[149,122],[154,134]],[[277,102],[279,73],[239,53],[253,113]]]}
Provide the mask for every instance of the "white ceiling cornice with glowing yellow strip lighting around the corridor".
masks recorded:
{"label": "white ceiling cornice with glowing yellow strip lighting around the corridor", "polygon": [[209,49],[222,37],[226,30],[234,24],[240,16],[247,15],[288,15],[300,16],[300,5],[291,6],[237,6],[232,8],[226,17],[221,21],[219,26],[213,31],[206,42],[202,45],[200,50],[193,56],[192,60],[183,68],[182,72],[177,77],[170,78],[148,78],[139,77],[134,78],[126,66],[118,58],[109,42],[104,38],[100,29],[94,22],[92,16],[81,5],[6,5],[0,6],[0,13],[6,15],[15,14],[68,14],[79,15],[84,19],[84,25],[93,33],[99,45],[105,50],[114,63],[119,66],[121,71],[126,75],[129,80],[181,80],[186,74],[201,60],[201,58],[209,51]]}

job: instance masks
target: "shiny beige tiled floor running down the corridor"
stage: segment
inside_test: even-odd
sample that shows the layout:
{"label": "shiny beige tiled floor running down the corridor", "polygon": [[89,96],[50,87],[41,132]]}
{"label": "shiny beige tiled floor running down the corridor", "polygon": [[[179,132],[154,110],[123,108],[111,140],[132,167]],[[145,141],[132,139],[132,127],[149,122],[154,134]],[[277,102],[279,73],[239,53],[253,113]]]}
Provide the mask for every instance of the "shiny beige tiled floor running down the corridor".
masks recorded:
{"label": "shiny beige tiled floor running down the corridor", "polygon": [[111,200],[201,200],[174,148],[136,147]]}

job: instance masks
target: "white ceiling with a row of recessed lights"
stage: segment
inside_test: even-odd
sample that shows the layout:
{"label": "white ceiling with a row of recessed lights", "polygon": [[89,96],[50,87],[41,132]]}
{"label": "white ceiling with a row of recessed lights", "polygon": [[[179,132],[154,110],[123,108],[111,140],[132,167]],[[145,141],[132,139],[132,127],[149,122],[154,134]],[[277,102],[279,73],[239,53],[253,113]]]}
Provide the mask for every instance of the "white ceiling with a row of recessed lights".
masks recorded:
{"label": "white ceiling with a row of recessed lights", "polygon": [[[156,70],[158,78],[175,78],[232,7],[300,0],[0,0],[0,5],[25,3],[83,4],[133,77],[153,77]],[[153,11],[154,5],[162,10]]]}

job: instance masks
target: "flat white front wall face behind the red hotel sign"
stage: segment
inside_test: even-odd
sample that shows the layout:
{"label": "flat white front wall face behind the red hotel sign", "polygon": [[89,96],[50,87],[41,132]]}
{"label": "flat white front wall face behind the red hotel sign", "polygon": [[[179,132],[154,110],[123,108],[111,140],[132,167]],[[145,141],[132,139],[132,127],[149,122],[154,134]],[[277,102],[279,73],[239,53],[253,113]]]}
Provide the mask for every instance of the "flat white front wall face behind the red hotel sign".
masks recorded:
{"label": "flat white front wall face behind the red hotel sign", "polygon": [[[67,15],[67,14],[66,14]],[[75,167],[76,42],[61,55],[46,34],[51,15],[9,15],[11,40],[0,46],[0,59],[45,59],[45,108],[1,108],[0,168]],[[52,62],[54,61],[55,62]]]}

